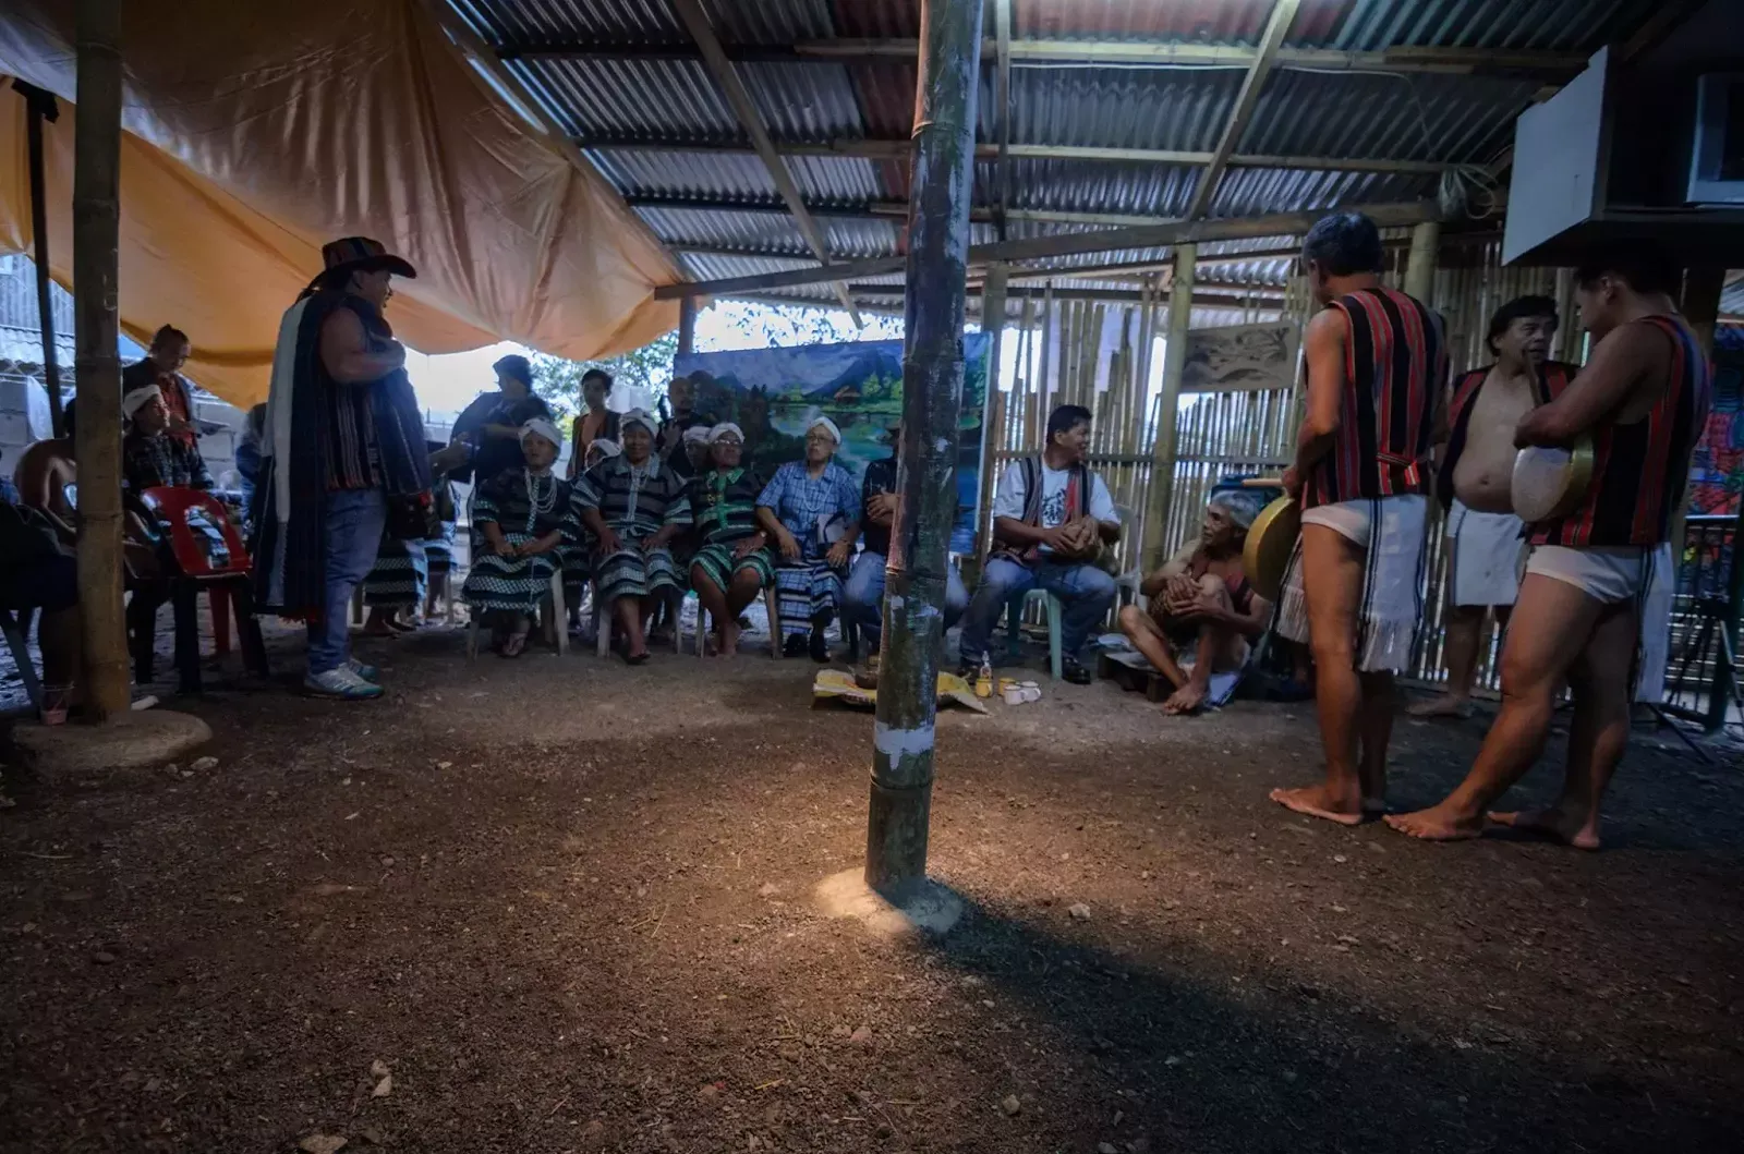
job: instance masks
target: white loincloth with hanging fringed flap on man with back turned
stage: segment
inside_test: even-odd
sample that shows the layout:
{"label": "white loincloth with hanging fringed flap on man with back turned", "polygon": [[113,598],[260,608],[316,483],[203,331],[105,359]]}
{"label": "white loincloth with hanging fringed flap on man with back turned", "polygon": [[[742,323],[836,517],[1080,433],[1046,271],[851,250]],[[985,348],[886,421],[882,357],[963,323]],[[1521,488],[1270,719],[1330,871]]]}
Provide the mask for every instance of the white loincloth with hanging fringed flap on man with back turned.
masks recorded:
{"label": "white loincloth with hanging fringed flap on man with back turned", "polygon": [[[1423,626],[1423,565],[1428,558],[1428,500],[1418,493],[1378,500],[1345,500],[1303,513],[1303,525],[1322,525],[1362,547],[1362,600],[1357,607],[1355,655],[1362,673],[1402,673]],[[1303,596],[1301,540],[1291,554],[1278,594],[1278,633],[1308,640]]]}

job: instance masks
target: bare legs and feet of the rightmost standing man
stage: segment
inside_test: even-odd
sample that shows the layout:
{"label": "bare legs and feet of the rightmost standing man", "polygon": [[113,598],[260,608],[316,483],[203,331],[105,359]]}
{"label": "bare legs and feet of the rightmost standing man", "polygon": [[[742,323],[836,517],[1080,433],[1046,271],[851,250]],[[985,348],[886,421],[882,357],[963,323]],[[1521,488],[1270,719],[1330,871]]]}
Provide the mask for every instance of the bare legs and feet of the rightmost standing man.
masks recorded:
{"label": "bare legs and feet of the rightmost standing man", "polygon": [[1598,849],[1599,798],[1629,743],[1629,669],[1636,628],[1632,603],[1603,605],[1573,584],[1528,574],[1502,654],[1502,711],[1472,770],[1439,805],[1390,816],[1386,823],[1425,840],[1482,833],[1488,807],[1543,751],[1556,690],[1566,678],[1575,692],[1575,720],[1561,800],[1545,811],[1491,818],[1580,849]]}

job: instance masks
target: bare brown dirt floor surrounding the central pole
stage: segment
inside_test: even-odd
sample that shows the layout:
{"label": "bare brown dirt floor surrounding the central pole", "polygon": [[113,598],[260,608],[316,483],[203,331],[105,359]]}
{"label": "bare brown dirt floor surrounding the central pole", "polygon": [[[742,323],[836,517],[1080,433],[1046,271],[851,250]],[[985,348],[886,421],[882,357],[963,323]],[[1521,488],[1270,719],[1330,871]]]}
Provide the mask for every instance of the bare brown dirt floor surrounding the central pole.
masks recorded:
{"label": "bare brown dirt floor surrounding the central pole", "polygon": [[[1266,802],[1306,708],[1050,687],[940,718],[966,915],[893,943],[811,905],[872,727],[814,666],[460,648],[185,706],[216,767],[9,770],[0,1149],[1739,1149],[1735,757],[1632,750],[1601,854],[1437,847]],[[1400,718],[1393,802],[1481,736]]]}

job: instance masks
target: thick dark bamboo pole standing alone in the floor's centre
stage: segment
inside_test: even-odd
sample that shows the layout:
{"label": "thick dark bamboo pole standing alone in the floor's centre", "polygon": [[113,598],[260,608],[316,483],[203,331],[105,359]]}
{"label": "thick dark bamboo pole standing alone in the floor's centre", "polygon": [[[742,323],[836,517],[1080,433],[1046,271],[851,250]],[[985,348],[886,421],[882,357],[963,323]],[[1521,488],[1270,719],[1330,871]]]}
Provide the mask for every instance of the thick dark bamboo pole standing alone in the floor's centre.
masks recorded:
{"label": "thick dark bamboo pole standing alone in the floor's centre", "polygon": [[884,664],[867,814],[867,884],[926,877],[945,567],[956,514],[963,293],[975,176],[982,0],[926,0],[914,108],[902,356],[902,507],[891,532]]}

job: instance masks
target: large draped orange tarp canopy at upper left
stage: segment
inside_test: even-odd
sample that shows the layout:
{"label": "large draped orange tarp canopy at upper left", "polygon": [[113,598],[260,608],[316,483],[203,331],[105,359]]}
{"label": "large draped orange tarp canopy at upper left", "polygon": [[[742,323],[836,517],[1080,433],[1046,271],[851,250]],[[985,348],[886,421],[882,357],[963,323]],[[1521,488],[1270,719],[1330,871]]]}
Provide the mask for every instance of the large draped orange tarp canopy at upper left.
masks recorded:
{"label": "large draped orange tarp canopy at upper left", "polygon": [[[49,270],[72,286],[72,3],[7,0],[0,73],[63,99],[45,126]],[[279,317],[321,244],[368,235],[410,260],[389,321],[410,345],[514,340],[588,359],[677,326],[659,242],[495,91],[419,0],[127,0],[120,319],[174,324],[188,375],[267,396]],[[24,99],[0,91],[0,253],[28,253]],[[413,382],[417,384],[417,382]]]}

